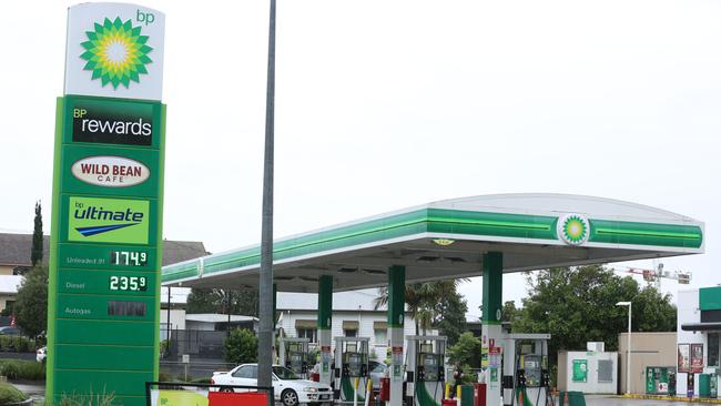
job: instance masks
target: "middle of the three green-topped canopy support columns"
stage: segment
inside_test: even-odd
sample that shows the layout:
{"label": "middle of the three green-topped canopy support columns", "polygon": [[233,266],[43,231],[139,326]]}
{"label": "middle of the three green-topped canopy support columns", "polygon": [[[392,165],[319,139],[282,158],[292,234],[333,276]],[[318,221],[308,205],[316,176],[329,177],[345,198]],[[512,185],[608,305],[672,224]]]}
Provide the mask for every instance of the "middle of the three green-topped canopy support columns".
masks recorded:
{"label": "middle of the three green-topped canopy support columns", "polygon": [[388,338],[390,339],[390,406],[403,403],[403,325],[406,305],[406,267],[388,270]]}

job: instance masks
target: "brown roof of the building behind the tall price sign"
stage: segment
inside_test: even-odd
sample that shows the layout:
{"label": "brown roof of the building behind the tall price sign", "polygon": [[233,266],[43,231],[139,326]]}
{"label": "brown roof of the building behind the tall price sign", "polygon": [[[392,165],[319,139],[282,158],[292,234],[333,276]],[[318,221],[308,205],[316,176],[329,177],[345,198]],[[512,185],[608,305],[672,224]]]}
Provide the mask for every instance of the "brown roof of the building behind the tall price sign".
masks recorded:
{"label": "brown roof of the building behind the tall price sign", "polygon": [[[50,236],[43,237],[43,262],[48,262]],[[30,266],[32,234],[0,233],[0,265]],[[200,241],[163,241],[163,266],[209,255]]]}

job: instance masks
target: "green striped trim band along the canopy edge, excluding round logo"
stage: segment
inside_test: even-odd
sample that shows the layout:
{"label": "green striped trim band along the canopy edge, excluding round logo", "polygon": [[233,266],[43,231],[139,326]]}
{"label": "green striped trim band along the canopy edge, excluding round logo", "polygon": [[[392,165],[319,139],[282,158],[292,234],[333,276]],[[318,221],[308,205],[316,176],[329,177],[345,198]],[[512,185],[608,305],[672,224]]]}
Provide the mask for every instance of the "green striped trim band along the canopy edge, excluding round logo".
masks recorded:
{"label": "green striped trim band along the canopy edge, excluding round logo", "polygon": [[[651,224],[590,220],[589,243],[632,244],[699,248],[702,231],[695,225]],[[372,244],[424,233],[469,235],[490,238],[527,238],[558,243],[557,216],[471,212],[446,209],[420,209],[363,223],[339,226],[274,243],[274,261],[292,260],[333,250]],[[257,266],[258,246],[205,257],[204,275]],[[163,282],[199,275],[195,262],[166,266]]]}

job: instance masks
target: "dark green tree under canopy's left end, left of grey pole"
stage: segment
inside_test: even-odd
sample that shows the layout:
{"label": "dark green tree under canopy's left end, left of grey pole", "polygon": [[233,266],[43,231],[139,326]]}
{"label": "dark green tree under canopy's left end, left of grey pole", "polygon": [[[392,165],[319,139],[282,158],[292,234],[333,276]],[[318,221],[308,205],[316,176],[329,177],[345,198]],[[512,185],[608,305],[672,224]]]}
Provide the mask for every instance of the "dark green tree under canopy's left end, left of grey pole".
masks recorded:
{"label": "dark green tree under canopy's left end, left of grey pole", "polygon": [[222,288],[193,288],[187,296],[187,314],[230,313],[257,317],[257,290],[241,288],[229,291]]}

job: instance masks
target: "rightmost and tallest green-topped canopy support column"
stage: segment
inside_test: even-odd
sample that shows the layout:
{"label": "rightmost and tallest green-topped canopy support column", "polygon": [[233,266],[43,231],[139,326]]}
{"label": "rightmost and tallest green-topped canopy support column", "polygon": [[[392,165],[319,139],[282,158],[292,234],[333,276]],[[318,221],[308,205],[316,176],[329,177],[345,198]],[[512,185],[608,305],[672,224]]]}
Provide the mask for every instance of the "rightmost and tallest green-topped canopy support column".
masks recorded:
{"label": "rightmost and tallest green-topped canopy support column", "polygon": [[484,311],[481,317],[480,380],[487,385],[486,405],[500,406],[504,254],[483,255]]}

